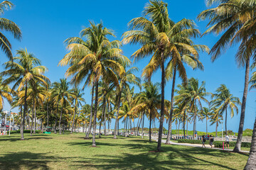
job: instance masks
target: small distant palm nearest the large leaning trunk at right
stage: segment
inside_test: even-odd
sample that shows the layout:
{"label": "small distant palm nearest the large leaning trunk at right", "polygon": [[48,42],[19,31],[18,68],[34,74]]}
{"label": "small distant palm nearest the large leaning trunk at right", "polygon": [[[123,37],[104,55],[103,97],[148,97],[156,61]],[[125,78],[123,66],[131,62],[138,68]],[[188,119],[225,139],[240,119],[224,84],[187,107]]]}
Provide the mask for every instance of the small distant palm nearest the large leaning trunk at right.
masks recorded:
{"label": "small distant palm nearest the large leaning trunk at right", "polygon": [[216,90],[217,94],[214,94],[215,99],[211,101],[213,107],[216,108],[216,112],[225,112],[225,134],[228,135],[227,121],[228,121],[228,108],[230,108],[230,116],[233,118],[234,111],[238,114],[238,106],[240,106],[240,99],[230,94],[229,89],[225,84],[221,84]]}

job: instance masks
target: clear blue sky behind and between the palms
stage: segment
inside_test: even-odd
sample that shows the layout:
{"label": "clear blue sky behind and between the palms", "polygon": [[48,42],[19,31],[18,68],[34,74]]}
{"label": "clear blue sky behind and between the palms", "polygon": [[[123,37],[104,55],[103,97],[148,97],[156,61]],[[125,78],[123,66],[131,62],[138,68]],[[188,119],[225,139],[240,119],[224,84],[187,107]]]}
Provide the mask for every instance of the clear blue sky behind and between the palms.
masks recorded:
{"label": "clear blue sky behind and between the palms", "polygon": [[[12,1],[15,7],[11,11],[4,13],[4,18],[9,18],[21,27],[23,38],[21,42],[11,38],[11,35],[6,34],[13,45],[13,52],[20,48],[26,47],[29,52],[33,52],[38,57],[42,64],[48,67],[49,71],[46,74],[50,80],[58,81],[64,77],[67,67],[57,67],[58,62],[66,54],[63,41],[66,38],[78,36],[78,33],[83,26],[89,26],[88,21],[99,23],[103,21],[105,27],[112,28],[117,40],[121,40],[122,33],[127,30],[127,23],[135,17],[142,16],[142,11],[148,0],[111,0],[111,1],[85,1],[85,0],[54,0],[54,1]],[[171,1],[166,0],[169,4],[169,16],[173,21],[180,21],[182,18],[193,19],[196,21],[196,16],[201,11],[205,10],[206,4],[203,0],[184,0]],[[196,24],[203,33],[206,30],[206,21]],[[218,40],[217,35],[206,35],[203,38],[198,38],[196,43],[208,45],[212,47]],[[132,53],[138,49],[136,45],[125,45],[123,47],[124,55],[130,57]],[[210,62],[210,56],[201,54],[201,62],[205,67],[204,72],[193,71],[187,69],[188,77],[195,77],[199,81],[206,81],[206,89],[209,92],[214,92],[220,84],[226,84],[234,96],[238,96],[242,100],[242,91],[244,86],[245,69],[238,68],[235,64],[235,50],[237,47],[227,49],[214,63]],[[3,52],[0,52],[0,64],[6,62],[7,58]],[[148,60],[137,62],[134,66],[139,67],[137,76],[140,76],[142,69],[145,67]],[[1,67],[1,70],[3,68]],[[161,81],[160,72],[156,72],[152,81]],[[178,79],[178,83],[181,81]],[[165,98],[171,98],[171,81],[166,84]],[[255,90],[256,91],[256,90]],[[247,96],[247,108],[245,114],[245,128],[252,129],[255,120],[256,92],[252,91]],[[90,89],[85,89],[85,100],[90,104]],[[4,109],[9,110],[9,104],[5,104]],[[239,114],[232,119],[228,118],[228,129],[238,132],[240,120]],[[112,123],[114,124],[114,123]],[[149,123],[146,123],[148,126]],[[158,124],[156,124],[158,127]],[[122,125],[121,125],[122,126]],[[167,124],[164,123],[167,128]],[[193,126],[188,128],[192,130]],[[198,123],[197,130],[205,131],[205,121]],[[210,126],[209,131],[215,130],[215,126]],[[221,130],[221,126],[218,128]]]}

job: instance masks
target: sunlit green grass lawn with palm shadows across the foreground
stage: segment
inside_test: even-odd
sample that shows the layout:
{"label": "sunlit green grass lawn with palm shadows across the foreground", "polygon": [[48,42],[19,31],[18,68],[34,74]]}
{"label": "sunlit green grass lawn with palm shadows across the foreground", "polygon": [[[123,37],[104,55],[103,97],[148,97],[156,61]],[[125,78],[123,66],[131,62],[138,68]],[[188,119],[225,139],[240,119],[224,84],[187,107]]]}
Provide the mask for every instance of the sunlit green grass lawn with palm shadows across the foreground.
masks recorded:
{"label": "sunlit green grass lawn with palm shadows across the foreground", "polygon": [[140,137],[97,139],[84,135],[0,136],[0,169],[243,169],[248,154],[214,149],[162,145]]}

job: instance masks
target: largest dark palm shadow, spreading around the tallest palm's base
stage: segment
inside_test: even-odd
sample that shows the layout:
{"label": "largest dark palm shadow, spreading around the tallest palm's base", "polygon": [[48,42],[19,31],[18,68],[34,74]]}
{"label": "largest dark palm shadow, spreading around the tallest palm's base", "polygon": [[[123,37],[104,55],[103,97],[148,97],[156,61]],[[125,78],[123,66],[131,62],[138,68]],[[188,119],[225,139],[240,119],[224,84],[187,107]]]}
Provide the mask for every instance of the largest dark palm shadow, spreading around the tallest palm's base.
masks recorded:
{"label": "largest dark palm shadow, spreading around the tallest palm's base", "polygon": [[[198,147],[182,147],[174,145],[164,145],[164,152],[151,153],[156,149],[155,142],[149,143],[145,140],[131,140],[132,144],[117,144],[110,142],[97,142],[97,146],[124,147],[136,149],[132,153],[122,153],[121,155],[95,155],[93,158],[83,158],[83,161],[76,162],[76,168],[90,168],[87,162],[92,162],[96,169],[194,169],[198,167],[217,167],[218,169],[233,169],[216,161],[213,162],[204,156],[228,157],[230,152],[221,152],[213,149],[203,149]],[[133,144],[133,142],[137,142]],[[91,142],[73,142],[68,145],[90,146]],[[167,159],[166,159],[167,157]],[[100,163],[100,164],[98,164]],[[213,168],[214,169],[214,168]]]}

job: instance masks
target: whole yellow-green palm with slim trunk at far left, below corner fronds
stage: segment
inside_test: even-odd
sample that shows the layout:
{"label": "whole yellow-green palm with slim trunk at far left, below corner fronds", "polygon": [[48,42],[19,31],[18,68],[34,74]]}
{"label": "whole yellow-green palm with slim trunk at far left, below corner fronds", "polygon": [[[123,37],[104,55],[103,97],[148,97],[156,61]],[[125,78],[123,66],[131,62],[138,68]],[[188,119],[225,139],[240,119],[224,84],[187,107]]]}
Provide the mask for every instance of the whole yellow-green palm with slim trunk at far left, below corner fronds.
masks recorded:
{"label": "whole yellow-green palm with slim trunk at far left, below corner fronds", "polygon": [[14,62],[4,63],[6,71],[1,72],[2,76],[7,76],[8,78],[4,80],[4,84],[14,83],[12,89],[21,91],[25,87],[24,94],[24,109],[22,117],[22,127],[21,127],[21,140],[24,140],[23,137],[23,128],[25,123],[25,115],[27,113],[27,91],[28,85],[36,82],[41,82],[47,86],[49,79],[43,74],[46,72],[47,68],[41,66],[41,61],[38,60],[32,53],[25,50],[17,50],[14,57]]}

